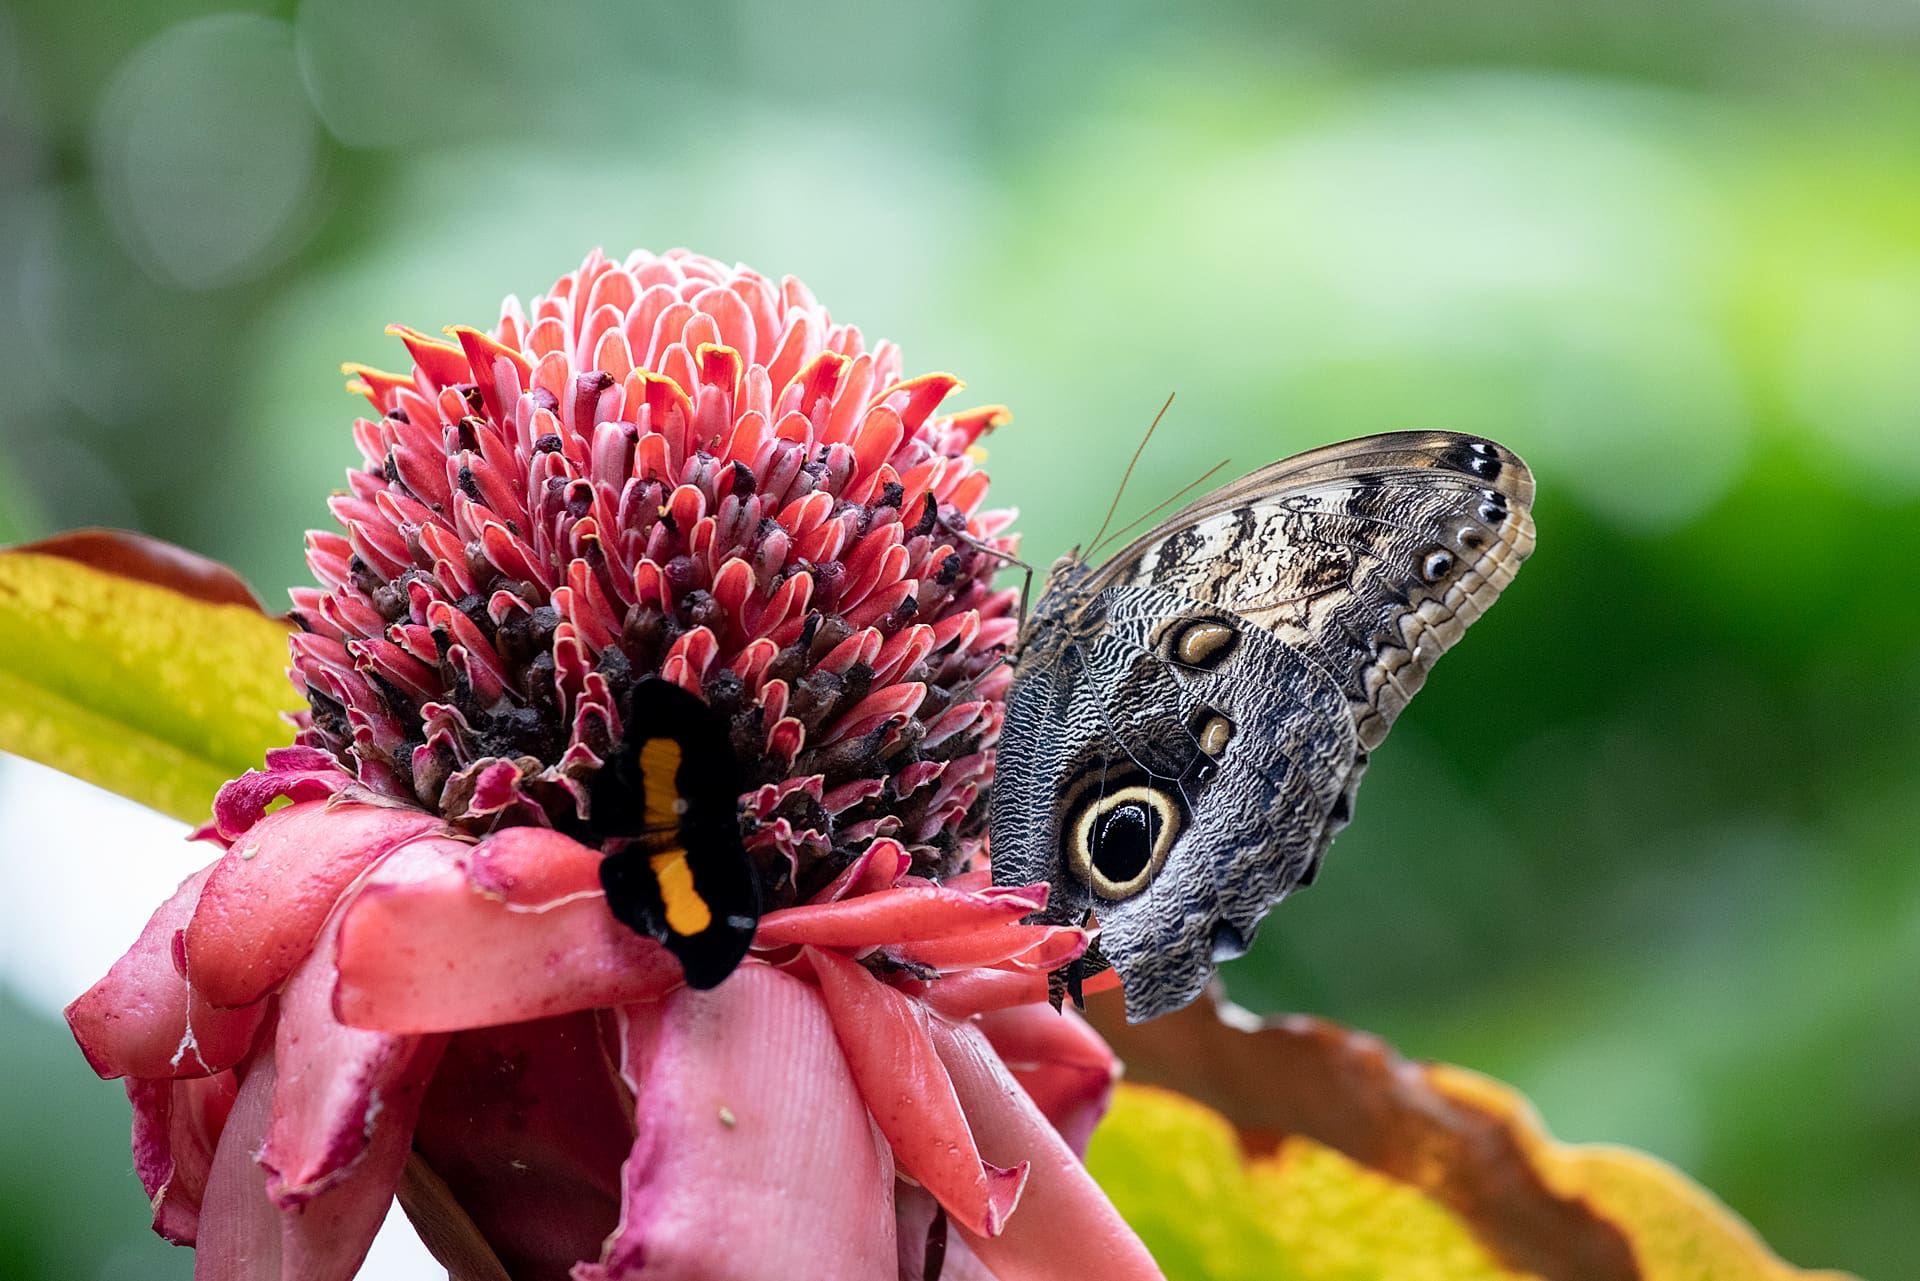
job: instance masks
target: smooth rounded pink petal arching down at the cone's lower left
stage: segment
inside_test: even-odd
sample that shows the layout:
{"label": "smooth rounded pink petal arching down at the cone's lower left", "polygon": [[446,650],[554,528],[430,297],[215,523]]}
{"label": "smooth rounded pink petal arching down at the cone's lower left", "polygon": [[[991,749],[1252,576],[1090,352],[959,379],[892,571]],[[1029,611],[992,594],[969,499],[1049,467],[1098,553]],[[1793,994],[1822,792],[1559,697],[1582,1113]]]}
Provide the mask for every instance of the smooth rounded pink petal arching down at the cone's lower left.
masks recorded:
{"label": "smooth rounded pink petal arching down at the cone's lower left", "polygon": [[300,801],[275,810],[221,857],[186,926],[194,987],[238,1006],[278,987],[313,949],[326,914],[353,878],[432,814],[384,805]]}

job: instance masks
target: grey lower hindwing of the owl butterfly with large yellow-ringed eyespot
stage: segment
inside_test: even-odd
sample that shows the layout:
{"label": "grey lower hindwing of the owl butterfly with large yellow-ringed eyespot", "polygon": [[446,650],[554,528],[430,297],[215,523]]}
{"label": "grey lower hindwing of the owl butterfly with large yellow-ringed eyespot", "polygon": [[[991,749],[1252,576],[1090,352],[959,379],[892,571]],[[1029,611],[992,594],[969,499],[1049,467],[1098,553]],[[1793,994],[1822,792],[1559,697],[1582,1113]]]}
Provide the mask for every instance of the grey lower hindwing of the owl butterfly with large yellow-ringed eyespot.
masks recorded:
{"label": "grey lower hindwing of the owl butterfly with large yellow-ringed eyespot", "polygon": [[1110,588],[1079,622],[1010,693],[993,868],[1052,882],[1052,920],[1094,912],[1139,1022],[1192,1001],[1309,874],[1359,741],[1342,689],[1231,611]]}

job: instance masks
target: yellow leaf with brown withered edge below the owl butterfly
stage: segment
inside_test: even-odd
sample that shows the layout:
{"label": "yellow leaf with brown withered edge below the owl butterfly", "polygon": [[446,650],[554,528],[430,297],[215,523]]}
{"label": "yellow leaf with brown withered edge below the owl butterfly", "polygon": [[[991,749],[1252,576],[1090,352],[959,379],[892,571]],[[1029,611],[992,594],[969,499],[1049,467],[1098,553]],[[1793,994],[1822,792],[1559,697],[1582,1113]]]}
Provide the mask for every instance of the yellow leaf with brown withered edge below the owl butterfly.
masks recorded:
{"label": "yellow leaf with brown withered edge below the owl butterfly", "polygon": [[1223,1281],[1836,1281],[1776,1258],[1640,1152],[1553,1141],[1498,1081],[1313,1018],[1213,1001],[1089,1016],[1123,1087],[1087,1164],[1169,1277]]}

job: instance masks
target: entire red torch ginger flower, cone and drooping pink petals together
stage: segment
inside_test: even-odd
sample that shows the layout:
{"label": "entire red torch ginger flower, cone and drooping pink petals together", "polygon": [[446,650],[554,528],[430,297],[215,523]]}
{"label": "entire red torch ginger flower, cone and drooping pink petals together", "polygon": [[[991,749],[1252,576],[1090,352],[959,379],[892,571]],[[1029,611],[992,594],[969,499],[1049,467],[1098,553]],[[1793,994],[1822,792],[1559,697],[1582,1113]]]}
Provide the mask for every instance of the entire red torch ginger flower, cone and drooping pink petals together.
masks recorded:
{"label": "entire red torch ginger flower, cone and drooping pink petals together", "polygon": [[1087,937],[983,866],[996,411],[680,252],[397,332],[300,745],[67,1010],[156,1229],[328,1281],[397,1191],[461,1277],[1160,1275],[1077,1158]]}

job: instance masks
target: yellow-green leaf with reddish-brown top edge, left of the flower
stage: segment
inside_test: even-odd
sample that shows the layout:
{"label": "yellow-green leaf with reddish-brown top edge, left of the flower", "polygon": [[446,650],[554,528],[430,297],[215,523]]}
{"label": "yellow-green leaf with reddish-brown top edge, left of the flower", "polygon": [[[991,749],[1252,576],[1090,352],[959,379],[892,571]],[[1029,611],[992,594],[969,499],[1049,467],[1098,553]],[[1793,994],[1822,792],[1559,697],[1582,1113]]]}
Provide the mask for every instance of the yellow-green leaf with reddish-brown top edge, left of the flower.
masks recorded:
{"label": "yellow-green leaf with reddish-brown top edge, left of the flower", "polygon": [[134,534],[0,551],[0,751],[186,822],[294,737],[288,624]]}

